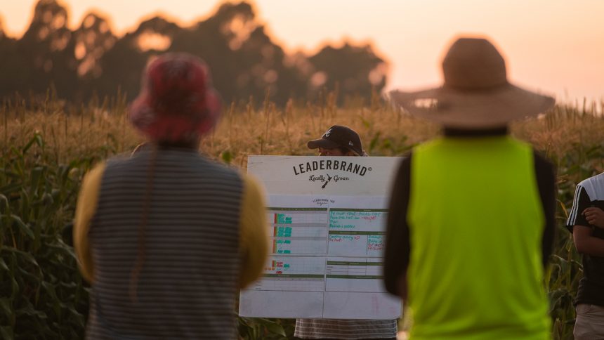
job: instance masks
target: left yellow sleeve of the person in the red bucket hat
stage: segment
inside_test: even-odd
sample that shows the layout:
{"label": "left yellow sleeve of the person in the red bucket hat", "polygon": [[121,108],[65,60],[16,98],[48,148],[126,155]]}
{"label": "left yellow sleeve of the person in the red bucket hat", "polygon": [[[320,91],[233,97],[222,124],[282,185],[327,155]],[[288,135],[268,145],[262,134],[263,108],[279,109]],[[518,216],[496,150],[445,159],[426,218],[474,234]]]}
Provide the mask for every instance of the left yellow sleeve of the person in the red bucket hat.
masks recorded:
{"label": "left yellow sleeve of the person in the red bucket hat", "polygon": [[88,230],[90,230],[91,220],[96,213],[98,195],[100,193],[100,180],[103,178],[103,171],[105,171],[105,163],[98,164],[84,176],[74,218],[74,248],[79,260],[78,264],[81,274],[88,282],[92,282],[94,279]]}

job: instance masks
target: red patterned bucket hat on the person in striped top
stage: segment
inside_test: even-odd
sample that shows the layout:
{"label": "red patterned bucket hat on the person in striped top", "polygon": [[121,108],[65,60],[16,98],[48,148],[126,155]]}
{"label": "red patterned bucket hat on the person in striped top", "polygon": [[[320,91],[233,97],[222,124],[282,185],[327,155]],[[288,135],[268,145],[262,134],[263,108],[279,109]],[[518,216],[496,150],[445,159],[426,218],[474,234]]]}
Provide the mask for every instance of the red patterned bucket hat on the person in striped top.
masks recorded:
{"label": "red patterned bucket hat on the person in striped top", "polygon": [[220,99],[203,60],[187,53],[167,53],[147,65],[143,88],[128,117],[151,140],[177,142],[210,131],[220,111]]}

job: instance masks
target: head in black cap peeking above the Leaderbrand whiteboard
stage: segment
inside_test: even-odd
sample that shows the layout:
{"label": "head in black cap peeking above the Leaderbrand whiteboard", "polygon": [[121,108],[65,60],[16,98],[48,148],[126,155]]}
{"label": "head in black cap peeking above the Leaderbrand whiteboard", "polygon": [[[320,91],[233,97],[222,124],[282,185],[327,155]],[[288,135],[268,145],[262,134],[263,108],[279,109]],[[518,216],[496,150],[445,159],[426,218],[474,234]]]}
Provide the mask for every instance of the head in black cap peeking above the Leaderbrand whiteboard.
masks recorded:
{"label": "head in black cap peeking above the Leaderbrand whiteboard", "polygon": [[367,156],[359,134],[347,126],[331,126],[319,139],[308,142],[309,149],[319,149],[320,156]]}

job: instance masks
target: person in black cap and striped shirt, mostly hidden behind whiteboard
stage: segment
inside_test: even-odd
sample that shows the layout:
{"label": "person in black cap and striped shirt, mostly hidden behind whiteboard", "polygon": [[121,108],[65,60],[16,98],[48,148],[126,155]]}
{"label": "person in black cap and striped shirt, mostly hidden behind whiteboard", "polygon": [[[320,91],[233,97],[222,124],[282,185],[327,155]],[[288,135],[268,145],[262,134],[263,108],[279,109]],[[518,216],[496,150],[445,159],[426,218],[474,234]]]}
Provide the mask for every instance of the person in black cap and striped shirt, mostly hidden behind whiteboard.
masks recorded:
{"label": "person in black cap and striped shirt, mostly hidden behind whiteboard", "polygon": [[[361,138],[346,126],[331,126],[319,139],[308,142],[320,156],[367,156]],[[297,339],[396,339],[396,320],[298,319]]]}

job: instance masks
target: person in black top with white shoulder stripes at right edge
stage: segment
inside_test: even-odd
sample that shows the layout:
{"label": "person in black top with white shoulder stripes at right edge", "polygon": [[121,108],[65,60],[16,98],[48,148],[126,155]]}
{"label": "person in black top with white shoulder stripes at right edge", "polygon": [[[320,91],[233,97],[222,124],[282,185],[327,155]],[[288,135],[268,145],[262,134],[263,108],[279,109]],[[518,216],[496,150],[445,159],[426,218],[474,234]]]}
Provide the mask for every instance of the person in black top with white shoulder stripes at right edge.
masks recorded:
{"label": "person in black top with white shoulder stripes at right edge", "polygon": [[566,228],[583,256],[575,339],[604,339],[604,174],[577,184]]}

